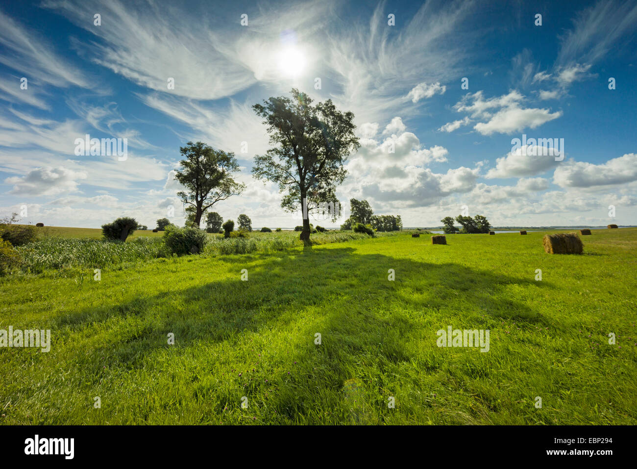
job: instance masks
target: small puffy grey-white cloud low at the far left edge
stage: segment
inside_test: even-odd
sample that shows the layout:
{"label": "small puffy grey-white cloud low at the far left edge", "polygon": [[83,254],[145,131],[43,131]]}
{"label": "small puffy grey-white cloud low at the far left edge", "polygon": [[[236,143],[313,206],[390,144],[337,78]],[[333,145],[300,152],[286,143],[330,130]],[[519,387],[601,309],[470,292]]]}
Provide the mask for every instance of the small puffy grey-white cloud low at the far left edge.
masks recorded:
{"label": "small puffy grey-white cloud low at the far left edge", "polygon": [[11,194],[34,197],[75,192],[78,190],[78,180],[86,179],[86,177],[85,172],[75,172],[64,167],[47,167],[35,168],[23,177],[8,177],[4,179],[4,182],[13,184]]}

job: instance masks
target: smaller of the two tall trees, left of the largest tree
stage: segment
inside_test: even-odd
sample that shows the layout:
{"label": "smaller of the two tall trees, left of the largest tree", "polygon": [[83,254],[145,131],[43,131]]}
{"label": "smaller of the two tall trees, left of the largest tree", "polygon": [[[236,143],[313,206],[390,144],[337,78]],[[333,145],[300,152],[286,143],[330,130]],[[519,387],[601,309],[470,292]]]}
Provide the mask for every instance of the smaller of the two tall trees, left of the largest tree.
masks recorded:
{"label": "smaller of the two tall trees, left of the largest tree", "polygon": [[207,209],[220,200],[239,195],[245,184],[233,179],[233,173],[239,170],[234,153],[215,150],[203,142],[188,142],[179,150],[185,159],[179,162],[175,179],[186,191],[177,195],[184,204],[194,209],[192,223],[198,227]]}

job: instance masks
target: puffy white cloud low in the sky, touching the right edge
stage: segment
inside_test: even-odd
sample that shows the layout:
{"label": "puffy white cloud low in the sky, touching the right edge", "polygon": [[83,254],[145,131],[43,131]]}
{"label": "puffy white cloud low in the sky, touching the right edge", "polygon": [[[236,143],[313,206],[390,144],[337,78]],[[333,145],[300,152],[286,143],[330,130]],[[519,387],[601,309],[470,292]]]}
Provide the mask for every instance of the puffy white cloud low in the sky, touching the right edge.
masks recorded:
{"label": "puffy white cloud low in the sky, touching the right edge", "polygon": [[589,188],[611,186],[637,181],[637,154],[628,153],[595,165],[584,161],[569,160],[553,174],[553,182],[563,188]]}

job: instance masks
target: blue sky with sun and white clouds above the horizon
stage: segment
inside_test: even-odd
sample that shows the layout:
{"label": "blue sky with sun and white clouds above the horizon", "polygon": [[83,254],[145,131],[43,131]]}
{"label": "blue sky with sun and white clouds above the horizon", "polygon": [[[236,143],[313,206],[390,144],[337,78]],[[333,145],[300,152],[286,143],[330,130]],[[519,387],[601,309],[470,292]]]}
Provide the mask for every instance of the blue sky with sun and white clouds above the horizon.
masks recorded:
{"label": "blue sky with sun and white clouds above the horizon", "polygon": [[[343,202],[406,226],[462,205],[493,225],[634,225],[636,26],[637,2],[612,1],[3,4],[0,213],[152,227],[173,205],[182,224],[173,171],[202,140],[234,151],[247,184],[213,211],[298,225],[250,174],[268,149],[250,106],[297,87],[356,116]],[[76,156],[85,134],[127,138],[127,159]],[[523,134],[563,138],[564,158],[513,150]]]}

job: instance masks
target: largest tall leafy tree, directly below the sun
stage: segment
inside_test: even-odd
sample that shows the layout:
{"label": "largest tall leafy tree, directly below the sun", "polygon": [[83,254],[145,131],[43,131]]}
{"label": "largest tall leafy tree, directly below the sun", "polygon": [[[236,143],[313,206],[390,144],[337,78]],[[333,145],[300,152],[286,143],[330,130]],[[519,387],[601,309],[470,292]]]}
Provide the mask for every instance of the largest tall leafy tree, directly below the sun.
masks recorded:
{"label": "largest tall leafy tree, directly below the sun", "polygon": [[[347,157],[361,146],[354,135],[352,112],[340,112],[331,100],[312,105],[311,98],[292,89],[292,98],[279,96],[252,108],[268,126],[270,144],[252,165],[256,179],[273,181],[284,193],[281,207],[301,208],[301,240],[310,241],[311,206],[334,203],[336,186],[345,180]],[[336,221],[335,211],[331,214]]]}

